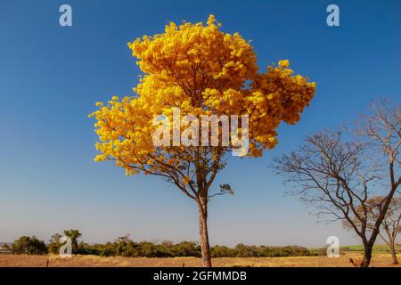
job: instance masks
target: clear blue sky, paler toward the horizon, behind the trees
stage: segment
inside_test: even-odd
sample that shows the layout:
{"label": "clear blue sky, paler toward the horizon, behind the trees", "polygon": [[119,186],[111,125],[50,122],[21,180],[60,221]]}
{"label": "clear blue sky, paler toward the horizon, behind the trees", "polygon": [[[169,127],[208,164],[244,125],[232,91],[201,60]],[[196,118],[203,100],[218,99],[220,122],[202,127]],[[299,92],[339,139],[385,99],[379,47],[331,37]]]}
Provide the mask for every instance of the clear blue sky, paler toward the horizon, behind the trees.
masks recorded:
{"label": "clear blue sky, paler toward the horizon, behind the trees", "polygon": [[[61,28],[70,4],[73,27]],[[326,7],[340,6],[340,27]],[[296,126],[279,128],[279,145],[260,159],[232,158],[216,181],[235,195],[209,208],[212,244],[320,246],[336,235],[358,241],[340,224],[316,223],[267,166],[306,134],[347,123],[373,98],[401,98],[399,1],[9,1],[0,2],[0,241],[47,240],[78,228],[102,242],[198,240],[194,202],[157,177],[127,177],[95,163],[94,102],[132,95],[139,69],[127,48],[168,21],[206,21],[240,32],[260,69],[289,59],[317,83]]]}

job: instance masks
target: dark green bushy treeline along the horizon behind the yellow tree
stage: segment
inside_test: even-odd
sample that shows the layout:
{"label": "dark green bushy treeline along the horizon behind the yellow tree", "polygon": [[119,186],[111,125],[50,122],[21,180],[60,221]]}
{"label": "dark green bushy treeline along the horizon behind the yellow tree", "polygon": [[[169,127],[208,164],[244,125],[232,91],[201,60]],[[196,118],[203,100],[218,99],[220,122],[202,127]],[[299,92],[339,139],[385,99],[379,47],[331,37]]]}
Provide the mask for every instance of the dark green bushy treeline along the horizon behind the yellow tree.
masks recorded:
{"label": "dark green bushy treeline along the horizon behind the yellow tree", "polygon": [[[153,243],[149,241],[134,241],[128,236],[120,237],[113,242],[89,244],[78,242],[81,233],[78,230],[64,231],[72,241],[72,253],[78,255],[95,256],[127,256],[127,257],[176,257],[176,256],[201,256],[201,247],[192,241],[173,243],[164,241]],[[5,245],[14,254],[45,255],[47,253],[58,254],[61,248],[60,234],[54,234],[46,245],[44,240],[38,240],[35,236],[22,236],[15,240],[11,247]],[[267,247],[248,246],[238,244],[234,248],[214,246],[211,248],[212,257],[270,257],[270,256],[316,256],[318,253],[299,246]]]}

